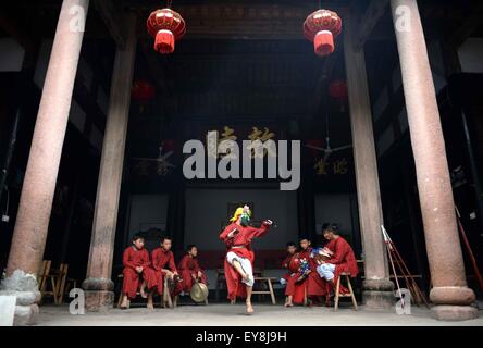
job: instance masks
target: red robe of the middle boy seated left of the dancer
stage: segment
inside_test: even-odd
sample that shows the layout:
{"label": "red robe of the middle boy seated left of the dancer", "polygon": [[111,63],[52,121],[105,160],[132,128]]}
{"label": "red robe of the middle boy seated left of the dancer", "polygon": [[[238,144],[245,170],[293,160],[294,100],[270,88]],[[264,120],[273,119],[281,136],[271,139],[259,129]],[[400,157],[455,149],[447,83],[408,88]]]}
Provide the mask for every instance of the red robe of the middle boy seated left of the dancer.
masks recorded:
{"label": "red robe of the middle boy seated left of the dancer", "polygon": [[[177,272],[176,264],[174,263],[173,252],[165,251],[163,248],[157,248],[151,252],[151,275],[148,279],[148,288],[150,290],[157,289],[159,295],[163,294],[164,287],[164,273],[162,270],[170,270],[171,272]],[[175,287],[173,296],[181,291],[181,284]]]}

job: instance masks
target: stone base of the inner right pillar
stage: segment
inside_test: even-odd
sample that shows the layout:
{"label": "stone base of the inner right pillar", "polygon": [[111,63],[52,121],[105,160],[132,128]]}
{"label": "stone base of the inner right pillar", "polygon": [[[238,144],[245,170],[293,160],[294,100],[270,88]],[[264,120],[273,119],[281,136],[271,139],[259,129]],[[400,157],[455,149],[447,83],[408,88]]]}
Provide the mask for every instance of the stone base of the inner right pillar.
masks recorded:
{"label": "stone base of the inner right pillar", "polygon": [[389,279],[366,279],[362,283],[362,304],[368,309],[394,310],[394,285]]}

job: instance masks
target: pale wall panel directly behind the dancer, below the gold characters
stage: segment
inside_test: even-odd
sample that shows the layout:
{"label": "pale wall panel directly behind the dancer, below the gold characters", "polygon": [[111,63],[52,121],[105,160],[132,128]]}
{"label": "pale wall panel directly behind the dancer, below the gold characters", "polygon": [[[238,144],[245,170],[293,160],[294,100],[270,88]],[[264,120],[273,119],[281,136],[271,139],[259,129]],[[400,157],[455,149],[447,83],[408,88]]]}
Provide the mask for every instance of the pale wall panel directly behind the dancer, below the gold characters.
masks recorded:
{"label": "pale wall panel directly behind the dancer, below the gold characters", "polygon": [[253,202],[253,220],[272,219],[273,228],[255,241],[258,249],[285,249],[288,240],[297,240],[296,191],[253,189],[187,189],[185,244],[196,244],[202,250],[221,250],[219,235],[226,224],[228,202]]}

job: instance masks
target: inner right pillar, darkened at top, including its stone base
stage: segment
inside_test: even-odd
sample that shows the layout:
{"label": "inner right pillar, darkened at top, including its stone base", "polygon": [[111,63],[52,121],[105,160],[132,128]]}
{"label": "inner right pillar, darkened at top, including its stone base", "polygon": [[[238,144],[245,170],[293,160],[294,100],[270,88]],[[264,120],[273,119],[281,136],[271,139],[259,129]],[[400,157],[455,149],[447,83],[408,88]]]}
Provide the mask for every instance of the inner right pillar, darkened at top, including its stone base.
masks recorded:
{"label": "inner right pillar, darkened at top, including its stone base", "polygon": [[354,45],[357,28],[354,25],[355,18],[348,14],[344,23],[344,53],[366,275],[362,300],[368,308],[389,309],[394,302],[394,286],[389,281],[381,232],[383,213],[364,52],[357,50]]}

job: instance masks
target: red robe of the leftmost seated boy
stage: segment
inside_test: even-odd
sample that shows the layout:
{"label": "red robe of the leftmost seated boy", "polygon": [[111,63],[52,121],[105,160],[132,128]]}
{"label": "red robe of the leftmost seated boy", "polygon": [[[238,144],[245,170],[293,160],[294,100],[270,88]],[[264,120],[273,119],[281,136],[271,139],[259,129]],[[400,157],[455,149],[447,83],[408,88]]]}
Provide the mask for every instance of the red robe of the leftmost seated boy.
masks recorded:
{"label": "red robe of the leftmost seated boy", "polygon": [[[136,298],[137,289],[139,288],[139,278],[147,279],[150,276],[149,269],[149,252],[146,249],[136,249],[131,246],[124,250],[123,254],[123,294],[129,298]],[[141,266],[143,273],[137,273],[136,268]]]}

